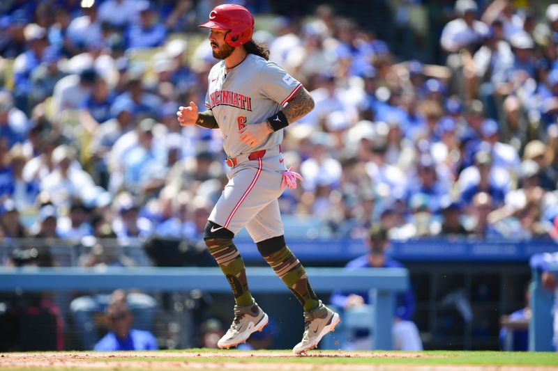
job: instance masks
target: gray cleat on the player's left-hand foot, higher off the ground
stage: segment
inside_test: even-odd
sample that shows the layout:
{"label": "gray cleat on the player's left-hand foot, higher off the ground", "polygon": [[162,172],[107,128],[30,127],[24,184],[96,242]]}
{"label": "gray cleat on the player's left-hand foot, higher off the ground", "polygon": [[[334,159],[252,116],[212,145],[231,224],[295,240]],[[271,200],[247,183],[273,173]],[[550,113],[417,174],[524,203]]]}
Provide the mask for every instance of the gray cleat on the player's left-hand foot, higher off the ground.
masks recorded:
{"label": "gray cleat on the player's left-hand foot, higher off the ground", "polygon": [[256,302],[249,306],[234,306],[232,324],[223,338],[217,342],[217,346],[221,349],[236,347],[246,342],[252,333],[262,331],[267,321],[267,315]]}

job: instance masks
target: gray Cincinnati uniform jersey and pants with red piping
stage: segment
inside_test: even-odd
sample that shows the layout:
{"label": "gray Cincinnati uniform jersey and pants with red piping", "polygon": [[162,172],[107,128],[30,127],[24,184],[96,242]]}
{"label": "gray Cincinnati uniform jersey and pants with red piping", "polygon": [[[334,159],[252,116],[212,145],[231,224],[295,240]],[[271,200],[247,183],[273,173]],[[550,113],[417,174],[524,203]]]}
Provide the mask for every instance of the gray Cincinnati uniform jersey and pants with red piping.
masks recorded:
{"label": "gray Cincinnati uniform jersey and pants with red piping", "polygon": [[[229,182],[209,220],[234,234],[246,226],[254,242],[284,233],[277,200],[282,193],[282,173],[287,170],[280,153],[283,133],[269,134],[250,147],[239,140],[239,129],[264,122],[300,88],[299,81],[276,63],[254,54],[248,54],[226,77],[224,61],[209,72],[205,105],[223,133],[225,153],[239,158],[239,164],[227,173]],[[266,150],[264,157],[249,160],[248,154],[258,150]]]}

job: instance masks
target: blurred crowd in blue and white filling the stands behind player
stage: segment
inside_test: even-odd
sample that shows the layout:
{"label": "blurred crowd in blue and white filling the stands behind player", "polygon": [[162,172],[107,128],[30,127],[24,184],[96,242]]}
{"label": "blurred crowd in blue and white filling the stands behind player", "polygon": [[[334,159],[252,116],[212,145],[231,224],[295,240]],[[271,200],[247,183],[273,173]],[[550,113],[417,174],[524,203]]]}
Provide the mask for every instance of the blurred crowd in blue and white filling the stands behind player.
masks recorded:
{"label": "blurred crowd in blue and white filling the stands behind player", "polygon": [[[197,24],[217,3],[2,1],[0,239],[201,239],[227,182],[222,137],[176,111],[204,106],[216,60]],[[315,100],[285,131],[304,178],[280,198],[287,219],[332,237],[380,223],[393,239],[558,238],[558,4],[441,1],[428,64],[333,6],[241,3]],[[432,1],[386,3],[400,24]]]}

